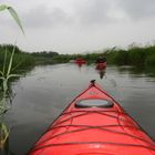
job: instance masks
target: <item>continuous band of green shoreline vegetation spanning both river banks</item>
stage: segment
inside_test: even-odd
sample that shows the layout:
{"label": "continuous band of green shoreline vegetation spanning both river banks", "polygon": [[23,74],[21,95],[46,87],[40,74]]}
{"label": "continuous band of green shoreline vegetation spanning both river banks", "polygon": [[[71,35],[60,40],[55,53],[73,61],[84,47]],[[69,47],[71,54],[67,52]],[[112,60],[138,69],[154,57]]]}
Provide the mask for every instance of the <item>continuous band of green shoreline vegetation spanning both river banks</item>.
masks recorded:
{"label": "continuous band of green shoreline vegetation spanning both river banks", "polygon": [[[8,60],[11,56],[11,51],[14,48],[12,44],[0,45],[0,68],[3,64],[4,51],[8,51]],[[155,68],[155,45],[147,46],[132,46],[127,50],[123,49],[108,49],[83,54],[59,54],[53,51],[42,51],[28,53],[16,46],[13,58],[13,71],[31,69],[35,65],[68,63],[76,58],[83,58],[87,64],[94,63],[99,55],[104,55],[108,64],[115,65],[133,65],[133,66],[154,66]],[[18,71],[18,72],[19,72]]]}

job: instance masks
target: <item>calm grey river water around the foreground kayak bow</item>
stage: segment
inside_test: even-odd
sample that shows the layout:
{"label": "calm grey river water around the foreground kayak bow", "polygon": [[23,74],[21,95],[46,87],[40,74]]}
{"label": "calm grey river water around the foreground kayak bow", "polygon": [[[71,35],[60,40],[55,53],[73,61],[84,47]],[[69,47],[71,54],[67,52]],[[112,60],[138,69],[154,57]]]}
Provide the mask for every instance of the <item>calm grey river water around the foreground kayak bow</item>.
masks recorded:
{"label": "calm grey river water around the foreground kayak bow", "polygon": [[94,65],[38,66],[13,83],[12,108],[6,116],[9,149],[24,155],[64,107],[95,79],[155,138],[155,79],[128,66],[108,66],[103,79]]}

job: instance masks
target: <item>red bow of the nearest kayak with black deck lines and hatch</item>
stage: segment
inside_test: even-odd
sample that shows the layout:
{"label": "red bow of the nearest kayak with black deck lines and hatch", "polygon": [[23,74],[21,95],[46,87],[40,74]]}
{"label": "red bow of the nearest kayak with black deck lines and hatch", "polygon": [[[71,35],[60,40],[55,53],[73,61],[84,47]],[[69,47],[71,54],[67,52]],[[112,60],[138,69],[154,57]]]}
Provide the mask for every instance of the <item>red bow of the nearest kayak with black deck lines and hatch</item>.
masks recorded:
{"label": "red bow of the nearest kayak with black deck lines and hatch", "polygon": [[29,155],[155,155],[155,142],[92,81]]}

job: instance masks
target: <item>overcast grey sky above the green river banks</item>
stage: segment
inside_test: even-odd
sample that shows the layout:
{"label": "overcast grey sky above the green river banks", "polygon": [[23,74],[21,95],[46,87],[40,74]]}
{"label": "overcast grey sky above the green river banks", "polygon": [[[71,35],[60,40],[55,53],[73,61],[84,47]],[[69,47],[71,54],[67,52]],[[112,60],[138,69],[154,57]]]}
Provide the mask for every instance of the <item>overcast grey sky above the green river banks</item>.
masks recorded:
{"label": "overcast grey sky above the green river banks", "polygon": [[25,35],[0,12],[0,44],[27,52],[83,53],[155,44],[155,0],[0,0],[16,9]]}

